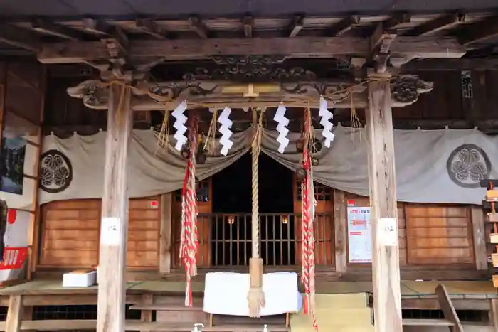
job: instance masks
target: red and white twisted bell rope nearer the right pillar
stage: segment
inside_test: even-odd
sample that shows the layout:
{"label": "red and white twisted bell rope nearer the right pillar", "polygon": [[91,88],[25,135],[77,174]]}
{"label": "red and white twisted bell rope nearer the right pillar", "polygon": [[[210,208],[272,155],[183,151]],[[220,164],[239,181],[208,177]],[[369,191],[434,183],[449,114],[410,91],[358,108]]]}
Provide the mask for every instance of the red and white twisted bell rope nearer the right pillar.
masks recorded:
{"label": "red and white twisted bell rope nearer the right pillar", "polygon": [[313,327],[318,331],[317,318],[314,314],[314,188],[309,141],[311,139],[311,119],[309,109],[304,120],[304,148],[302,150],[302,168],[304,179],[301,182],[302,193],[302,273],[304,285],[304,314],[312,316]]}

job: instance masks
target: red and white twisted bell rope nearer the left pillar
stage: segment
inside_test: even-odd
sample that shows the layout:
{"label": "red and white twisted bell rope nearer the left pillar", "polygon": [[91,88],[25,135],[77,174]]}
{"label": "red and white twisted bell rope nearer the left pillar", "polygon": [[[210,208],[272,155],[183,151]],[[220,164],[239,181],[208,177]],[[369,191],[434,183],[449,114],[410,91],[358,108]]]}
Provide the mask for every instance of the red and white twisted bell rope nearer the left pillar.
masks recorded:
{"label": "red and white twisted bell rope nearer the left pillar", "polygon": [[185,305],[192,306],[191,277],[197,274],[197,195],[196,195],[196,152],[198,119],[189,119],[189,159],[185,168],[184,187],[181,190],[181,244],[180,259],[186,272]]}

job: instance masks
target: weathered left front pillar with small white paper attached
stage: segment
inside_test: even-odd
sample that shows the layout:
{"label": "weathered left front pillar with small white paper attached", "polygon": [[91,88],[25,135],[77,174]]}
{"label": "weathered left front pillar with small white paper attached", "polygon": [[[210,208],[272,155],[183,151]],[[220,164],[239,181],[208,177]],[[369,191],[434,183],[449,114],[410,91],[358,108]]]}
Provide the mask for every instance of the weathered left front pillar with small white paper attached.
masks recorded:
{"label": "weathered left front pillar with small white paper attached", "polygon": [[97,332],[122,332],[126,299],[127,156],[132,109],[128,87],[111,85],[109,91],[100,227]]}

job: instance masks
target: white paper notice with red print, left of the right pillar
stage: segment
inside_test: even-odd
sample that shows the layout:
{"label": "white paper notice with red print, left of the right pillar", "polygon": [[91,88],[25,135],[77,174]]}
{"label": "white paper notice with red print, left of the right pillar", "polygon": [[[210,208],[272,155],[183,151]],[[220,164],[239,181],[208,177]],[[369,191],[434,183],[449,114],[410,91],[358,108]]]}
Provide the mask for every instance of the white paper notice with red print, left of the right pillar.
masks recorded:
{"label": "white paper notice with red print, left of the right pillar", "polygon": [[350,263],[372,262],[369,206],[348,206],[348,247]]}

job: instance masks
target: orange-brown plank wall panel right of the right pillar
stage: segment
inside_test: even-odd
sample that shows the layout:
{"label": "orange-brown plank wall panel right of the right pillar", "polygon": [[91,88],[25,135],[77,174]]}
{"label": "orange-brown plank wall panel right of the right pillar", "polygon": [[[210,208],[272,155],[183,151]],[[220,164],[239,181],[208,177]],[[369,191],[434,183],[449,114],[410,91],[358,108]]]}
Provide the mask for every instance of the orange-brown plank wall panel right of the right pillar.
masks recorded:
{"label": "orange-brown plank wall panel right of the right pillar", "polygon": [[470,207],[407,204],[409,264],[473,264]]}

